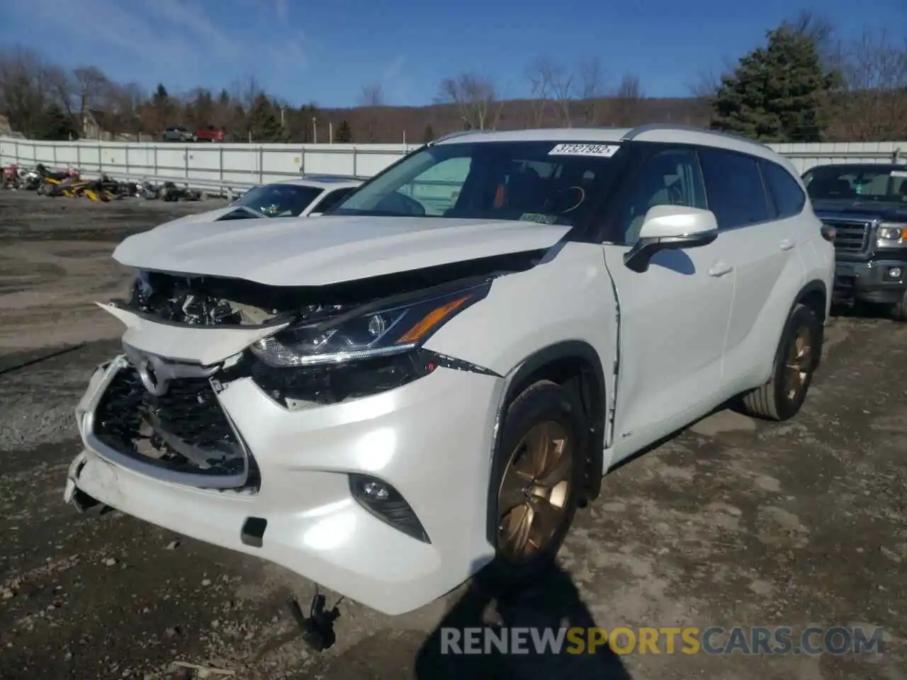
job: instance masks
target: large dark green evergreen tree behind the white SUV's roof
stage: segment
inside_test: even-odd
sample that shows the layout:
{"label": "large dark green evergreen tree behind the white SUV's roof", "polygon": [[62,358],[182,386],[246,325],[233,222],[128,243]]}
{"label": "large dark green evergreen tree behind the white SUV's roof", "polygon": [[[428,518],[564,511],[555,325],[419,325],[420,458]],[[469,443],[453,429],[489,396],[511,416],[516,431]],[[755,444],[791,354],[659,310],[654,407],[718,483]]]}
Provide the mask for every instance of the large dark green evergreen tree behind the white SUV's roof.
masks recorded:
{"label": "large dark green evergreen tree behind the white SUV's roof", "polygon": [[821,141],[822,101],[834,84],[814,41],[787,25],[767,34],[766,47],[740,59],[712,99],[713,130],[758,141]]}

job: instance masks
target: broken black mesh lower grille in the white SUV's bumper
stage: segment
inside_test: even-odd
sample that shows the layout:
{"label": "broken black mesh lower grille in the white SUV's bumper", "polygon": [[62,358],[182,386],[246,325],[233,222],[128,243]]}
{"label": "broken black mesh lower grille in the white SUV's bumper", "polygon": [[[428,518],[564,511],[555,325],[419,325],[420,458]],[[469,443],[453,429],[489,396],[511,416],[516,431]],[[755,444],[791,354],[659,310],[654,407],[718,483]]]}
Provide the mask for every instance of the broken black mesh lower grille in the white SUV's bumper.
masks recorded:
{"label": "broken black mesh lower grille in the white SUV's bumper", "polygon": [[247,455],[208,378],[178,378],[156,396],[132,366],[113,376],[94,411],[93,434],[137,461],[177,474],[245,475]]}

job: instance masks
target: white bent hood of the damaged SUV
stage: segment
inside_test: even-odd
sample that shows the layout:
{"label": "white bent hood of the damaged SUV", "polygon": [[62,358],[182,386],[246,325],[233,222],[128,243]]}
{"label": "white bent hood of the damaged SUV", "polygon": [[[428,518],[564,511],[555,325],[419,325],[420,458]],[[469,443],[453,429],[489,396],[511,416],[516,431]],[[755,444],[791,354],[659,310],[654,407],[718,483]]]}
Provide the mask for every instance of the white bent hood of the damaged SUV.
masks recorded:
{"label": "white bent hood of the damaged SUV", "polygon": [[170,222],[126,238],[127,267],[324,286],[551,248],[570,227],[512,220],[324,216]]}

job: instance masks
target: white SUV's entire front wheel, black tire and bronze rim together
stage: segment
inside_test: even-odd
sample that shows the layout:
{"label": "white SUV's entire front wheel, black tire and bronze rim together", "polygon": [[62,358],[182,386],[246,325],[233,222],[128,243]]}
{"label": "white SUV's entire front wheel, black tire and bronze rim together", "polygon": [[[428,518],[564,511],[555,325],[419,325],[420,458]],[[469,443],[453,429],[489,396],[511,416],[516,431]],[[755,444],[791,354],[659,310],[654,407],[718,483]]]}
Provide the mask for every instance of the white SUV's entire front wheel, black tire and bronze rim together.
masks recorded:
{"label": "white SUV's entire front wheel, black tire and bronze rim together", "polygon": [[553,564],[583,480],[580,404],[558,384],[532,384],[510,405],[493,465],[496,557],[486,575],[521,586]]}

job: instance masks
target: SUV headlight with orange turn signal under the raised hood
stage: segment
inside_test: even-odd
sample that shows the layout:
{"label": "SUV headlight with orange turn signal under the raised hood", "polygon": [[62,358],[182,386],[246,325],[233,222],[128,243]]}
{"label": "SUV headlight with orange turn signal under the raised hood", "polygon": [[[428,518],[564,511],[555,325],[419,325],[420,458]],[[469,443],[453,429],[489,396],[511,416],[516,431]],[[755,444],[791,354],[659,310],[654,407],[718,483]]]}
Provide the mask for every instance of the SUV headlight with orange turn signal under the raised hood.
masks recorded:
{"label": "SUV headlight with orange turn signal under the raised hood", "polygon": [[438,328],[488,295],[491,284],[405,302],[360,306],[320,323],[303,323],[249,346],[265,364],[311,366],[396,355],[422,345]]}

